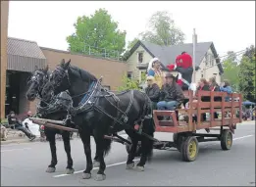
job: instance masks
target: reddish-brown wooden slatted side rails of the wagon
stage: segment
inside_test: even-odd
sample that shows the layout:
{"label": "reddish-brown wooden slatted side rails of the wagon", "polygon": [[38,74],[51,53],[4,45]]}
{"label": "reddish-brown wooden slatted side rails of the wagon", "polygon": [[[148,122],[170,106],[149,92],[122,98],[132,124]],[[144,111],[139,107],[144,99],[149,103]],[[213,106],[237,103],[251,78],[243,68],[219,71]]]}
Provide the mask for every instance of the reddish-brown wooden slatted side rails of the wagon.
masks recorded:
{"label": "reddish-brown wooden slatted side rails of the wagon", "polygon": [[[156,125],[156,131],[161,132],[185,132],[195,131],[203,128],[210,128],[216,126],[229,126],[230,130],[234,132],[235,124],[242,121],[241,94],[237,93],[225,93],[225,92],[211,92],[211,91],[199,91],[196,96],[193,96],[192,91],[184,92],[185,97],[188,99],[188,109],[178,109],[177,111],[154,111],[154,121]],[[226,102],[225,98],[229,97],[230,102]],[[239,98],[239,101],[234,101],[235,98]],[[207,101],[205,100],[207,99]],[[197,100],[197,102],[193,102]],[[202,101],[203,100],[203,101]],[[220,101],[221,100],[221,101]],[[239,111],[238,117],[236,116]],[[186,115],[188,121],[176,120],[176,113]],[[221,118],[214,118],[214,113],[221,112]],[[201,120],[201,115],[204,113],[210,114],[209,120]],[[230,117],[225,117],[227,113],[230,113]],[[197,116],[197,121],[192,121],[192,115]],[[158,116],[169,116],[173,120],[159,120]]]}

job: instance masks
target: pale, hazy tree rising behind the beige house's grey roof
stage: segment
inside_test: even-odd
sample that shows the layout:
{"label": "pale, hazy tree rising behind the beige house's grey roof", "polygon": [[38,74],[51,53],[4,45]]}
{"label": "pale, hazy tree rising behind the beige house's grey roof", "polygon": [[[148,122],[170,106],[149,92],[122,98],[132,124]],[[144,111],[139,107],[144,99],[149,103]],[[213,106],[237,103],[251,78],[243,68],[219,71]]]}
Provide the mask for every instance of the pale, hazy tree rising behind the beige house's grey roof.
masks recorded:
{"label": "pale, hazy tree rising behind the beige house's grey roof", "polygon": [[149,30],[140,33],[142,41],[158,45],[177,45],[184,41],[184,33],[175,25],[168,12],[156,12],[149,20]]}

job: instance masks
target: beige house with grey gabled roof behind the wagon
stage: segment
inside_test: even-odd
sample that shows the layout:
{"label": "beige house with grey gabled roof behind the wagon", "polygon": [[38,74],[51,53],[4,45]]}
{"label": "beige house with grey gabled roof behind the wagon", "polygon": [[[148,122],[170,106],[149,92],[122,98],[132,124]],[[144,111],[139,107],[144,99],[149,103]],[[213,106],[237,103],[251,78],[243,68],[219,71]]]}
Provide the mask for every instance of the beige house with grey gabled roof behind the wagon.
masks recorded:
{"label": "beige house with grey gabled roof behind the wagon", "polygon": [[[128,75],[141,80],[141,72],[146,71],[149,61],[157,57],[162,65],[174,64],[176,57],[181,52],[187,52],[192,56],[192,43],[179,44],[175,46],[160,46],[149,42],[138,41],[129,51]],[[218,59],[218,54],[213,42],[200,42],[196,44],[196,82],[201,77],[209,79],[216,76],[217,82],[221,82],[221,75],[224,72]]]}

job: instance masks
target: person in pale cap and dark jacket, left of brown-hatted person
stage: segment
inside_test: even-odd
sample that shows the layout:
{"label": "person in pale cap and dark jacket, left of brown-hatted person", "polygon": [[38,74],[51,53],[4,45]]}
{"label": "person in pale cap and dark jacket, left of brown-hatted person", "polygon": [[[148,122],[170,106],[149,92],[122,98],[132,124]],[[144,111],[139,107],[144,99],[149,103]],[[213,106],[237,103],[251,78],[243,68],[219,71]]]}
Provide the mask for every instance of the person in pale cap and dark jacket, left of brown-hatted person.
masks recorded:
{"label": "person in pale cap and dark jacket, left of brown-hatted person", "polygon": [[145,92],[152,102],[152,109],[155,110],[157,108],[157,102],[159,101],[160,97],[160,88],[156,84],[154,76],[147,76],[146,80],[147,87]]}

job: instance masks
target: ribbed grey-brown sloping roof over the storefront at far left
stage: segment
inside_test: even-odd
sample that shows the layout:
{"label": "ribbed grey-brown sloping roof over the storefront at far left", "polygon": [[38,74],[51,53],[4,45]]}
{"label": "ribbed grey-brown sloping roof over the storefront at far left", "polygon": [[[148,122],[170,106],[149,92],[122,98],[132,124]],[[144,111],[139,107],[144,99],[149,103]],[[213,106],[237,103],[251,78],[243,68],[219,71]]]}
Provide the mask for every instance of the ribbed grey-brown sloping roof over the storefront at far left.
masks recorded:
{"label": "ribbed grey-brown sloping roof over the storefront at far left", "polygon": [[36,42],[8,37],[7,54],[36,59],[46,59]]}

